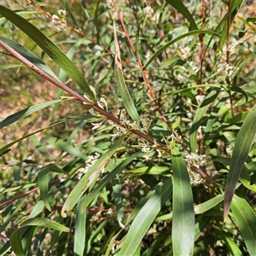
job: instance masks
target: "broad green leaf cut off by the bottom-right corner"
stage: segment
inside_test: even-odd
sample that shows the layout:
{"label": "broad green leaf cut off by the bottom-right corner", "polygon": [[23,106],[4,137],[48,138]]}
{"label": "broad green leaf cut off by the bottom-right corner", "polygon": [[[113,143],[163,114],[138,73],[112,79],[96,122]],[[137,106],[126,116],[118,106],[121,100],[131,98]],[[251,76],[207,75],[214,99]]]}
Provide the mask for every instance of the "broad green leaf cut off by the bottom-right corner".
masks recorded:
{"label": "broad green leaf cut off by the bottom-right corner", "polygon": [[244,198],[234,195],[231,211],[241,231],[241,236],[247,246],[249,255],[256,255],[256,216],[252,207]]}

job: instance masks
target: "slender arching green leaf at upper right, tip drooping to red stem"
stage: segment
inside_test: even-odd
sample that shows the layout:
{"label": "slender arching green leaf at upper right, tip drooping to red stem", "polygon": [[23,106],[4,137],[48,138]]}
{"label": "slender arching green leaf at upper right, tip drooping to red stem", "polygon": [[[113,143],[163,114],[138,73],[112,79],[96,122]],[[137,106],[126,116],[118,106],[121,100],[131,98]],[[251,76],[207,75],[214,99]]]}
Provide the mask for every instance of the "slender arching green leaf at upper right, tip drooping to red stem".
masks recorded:
{"label": "slender arching green leaf at upper right, tip drooping to red stem", "polygon": [[199,34],[210,34],[210,35],[218,35],[217,32],[212,32],[212,31],[205,31],[205,30],[196,30],[196,31],[191,31],[188,33],[183,34],[182,36],[179,36],[175,39],[173,39],[172,41],[168,42],[167,44],[165,44],[164,46],[162,46],[160,49],[158,49],[154,55],[151,56],[151,58],[148,60],[148,62],[143,66],[143,70],[147,69],[148,65],[154,61],[154,59],[156,59],[165,49],[167,49],[169,46],[171,46],[172,44],[176,43],[177,41],[183,39],[183,38],[187,38],[190,36],[195,36],[195,35],[199,35]]}

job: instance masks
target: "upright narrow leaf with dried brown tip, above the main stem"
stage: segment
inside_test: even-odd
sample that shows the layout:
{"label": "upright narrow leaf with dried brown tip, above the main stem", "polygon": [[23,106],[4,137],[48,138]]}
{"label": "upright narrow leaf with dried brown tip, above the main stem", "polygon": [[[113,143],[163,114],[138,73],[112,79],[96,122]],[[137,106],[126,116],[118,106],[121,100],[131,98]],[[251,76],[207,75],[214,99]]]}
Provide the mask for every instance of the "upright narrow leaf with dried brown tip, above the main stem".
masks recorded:
{"label": "upright narrow leaf with dried brown tip, above the main stem", "polygon": [[139,120],[140,116],[137,113],[137,109],[134,106],[134,103],[132,102],[131,95],[125,84],[125,79],[122,72],[122,61],[121,61],[121,55],[120,55],[120,49],[119,49],[119,42],[118,42],[114,23],[113,23],[113,33],[114,33],[113,34],[114,45],[115,45],[115,51],[116,51],[115,57],[114,57],[114,78],[116,83],[118,84],[118,88],[119,88],[121,97],[123,99],[125,109],[127,110],[127,112],[129,113],[132,119]]}

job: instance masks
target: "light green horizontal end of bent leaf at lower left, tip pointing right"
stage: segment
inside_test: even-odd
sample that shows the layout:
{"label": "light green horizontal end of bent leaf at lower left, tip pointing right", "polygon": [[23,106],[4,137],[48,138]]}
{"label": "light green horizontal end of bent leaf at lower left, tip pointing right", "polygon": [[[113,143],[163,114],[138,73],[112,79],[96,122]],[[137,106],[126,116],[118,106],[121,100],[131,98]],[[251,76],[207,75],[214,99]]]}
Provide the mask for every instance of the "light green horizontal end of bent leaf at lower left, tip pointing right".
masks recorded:
{"label": "light green horizontal end of bent leaf at lower left, tip pointing right", "polygon": [[25,222],[21,224],[21,227],[24,226],[41,226],[48,229],[59,230],[62,232],[71,232],[66,226],[55,222],[49,218],[28,218]]}

